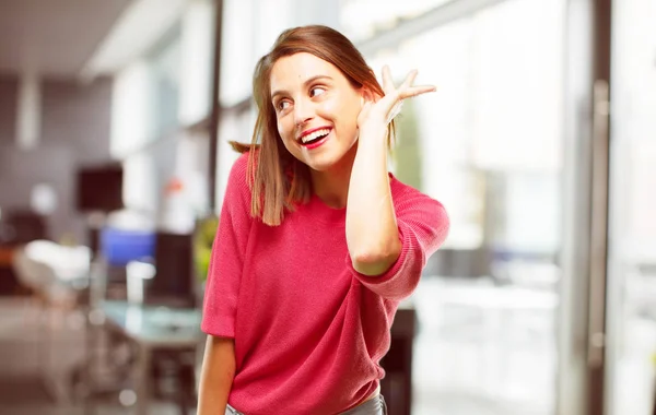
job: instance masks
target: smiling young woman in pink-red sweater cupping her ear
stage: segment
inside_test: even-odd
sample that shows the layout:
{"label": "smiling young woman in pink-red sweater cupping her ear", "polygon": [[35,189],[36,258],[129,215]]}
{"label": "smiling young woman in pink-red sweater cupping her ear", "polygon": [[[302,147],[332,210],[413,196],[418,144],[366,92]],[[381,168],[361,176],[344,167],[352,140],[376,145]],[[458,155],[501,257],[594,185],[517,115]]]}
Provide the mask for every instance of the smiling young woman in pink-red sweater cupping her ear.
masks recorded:
{"label": "smiling young woman in pink-red sweater cupping her ear", "polygon": [[212,248],[199,414],[385,413],[397,306],[448,230],[387,171],[395,108],[435,90],[415,75],[395,87],[385,68],[380,86],[325,26],[283,32],[258,62]]}

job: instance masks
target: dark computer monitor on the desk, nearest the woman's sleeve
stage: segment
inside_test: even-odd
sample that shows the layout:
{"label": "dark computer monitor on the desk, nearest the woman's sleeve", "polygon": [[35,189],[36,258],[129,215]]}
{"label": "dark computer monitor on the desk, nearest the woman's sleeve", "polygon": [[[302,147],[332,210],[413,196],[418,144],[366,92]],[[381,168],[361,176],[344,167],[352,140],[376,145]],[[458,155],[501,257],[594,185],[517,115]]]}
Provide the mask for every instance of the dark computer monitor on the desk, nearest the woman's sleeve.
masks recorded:
{"label": "dark computer monitor on the desk, nearest the woman's sleeve", "polygon": [[192,235],[159,232],[154,265],[155,276],[149,281],[144,293],[145,304],[195,307]]}

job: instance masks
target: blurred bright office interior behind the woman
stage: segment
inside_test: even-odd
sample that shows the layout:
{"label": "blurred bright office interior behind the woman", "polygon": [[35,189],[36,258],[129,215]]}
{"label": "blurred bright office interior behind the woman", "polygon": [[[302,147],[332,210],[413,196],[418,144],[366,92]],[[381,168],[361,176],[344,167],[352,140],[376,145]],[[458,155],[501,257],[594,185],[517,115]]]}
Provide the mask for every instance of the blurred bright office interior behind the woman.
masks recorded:
{"label": "blurred bright office interior behind the woman", "polygon": [[326,24],[406,103],[390,169],[450,235],[391,415],[656,414],[656,2],[0,0],[0,413],[192,414],[256,60]]}

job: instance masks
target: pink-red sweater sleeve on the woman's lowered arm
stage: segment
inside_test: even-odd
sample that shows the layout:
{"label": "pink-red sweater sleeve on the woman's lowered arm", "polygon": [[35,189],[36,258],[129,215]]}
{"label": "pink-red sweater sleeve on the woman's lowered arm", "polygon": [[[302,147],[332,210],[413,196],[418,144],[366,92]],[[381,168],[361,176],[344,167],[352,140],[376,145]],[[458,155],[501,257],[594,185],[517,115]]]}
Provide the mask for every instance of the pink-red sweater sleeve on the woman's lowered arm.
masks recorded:
{"label": "pink-red sweater sleeve on the woman's lowered arm", "polygon": [[254,221],[250,216],[250,190],[246,181],[247,165],[248,153],[243,154],[231,169],[219,229],[212,245],[201,330],[215,336],[235,335],[242,270]]}

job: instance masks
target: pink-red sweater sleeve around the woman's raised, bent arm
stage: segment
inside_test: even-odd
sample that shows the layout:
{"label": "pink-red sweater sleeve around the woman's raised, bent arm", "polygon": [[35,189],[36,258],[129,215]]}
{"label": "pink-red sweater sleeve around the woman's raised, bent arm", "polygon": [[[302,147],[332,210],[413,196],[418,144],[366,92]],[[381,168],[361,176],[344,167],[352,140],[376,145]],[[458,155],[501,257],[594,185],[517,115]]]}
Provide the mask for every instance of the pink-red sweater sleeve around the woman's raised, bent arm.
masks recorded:
{"label": "pink-red sweater sleeve around the woman's raised, bent arm", "polygon": [[401,300],[412,294],[429,258],[446,239],[449,220],[438,201],[414,190],[395,203],[401,253],[382,275],[368,276],[353,268],[347,256],[347,266],[364,286],[382,297]]}

